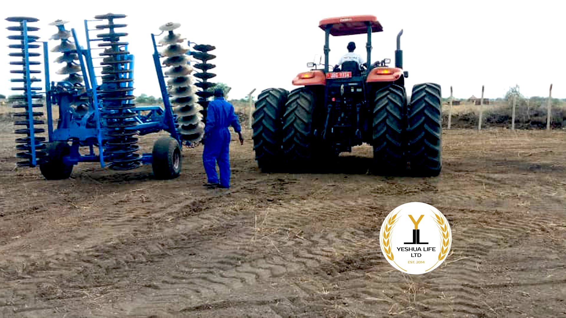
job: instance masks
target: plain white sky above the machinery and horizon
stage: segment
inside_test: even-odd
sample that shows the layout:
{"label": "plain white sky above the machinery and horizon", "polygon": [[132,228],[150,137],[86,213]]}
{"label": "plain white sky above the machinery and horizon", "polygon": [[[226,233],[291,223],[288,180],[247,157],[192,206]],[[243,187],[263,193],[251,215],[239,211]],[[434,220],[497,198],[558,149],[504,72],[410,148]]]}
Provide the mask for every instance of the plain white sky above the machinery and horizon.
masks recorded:
{"label": "plain white sky above the machinery and horizon", "polygon": [[[518,84],[525,96],[566,98],[566,45],[564,45],[564,1],[102,1],[94,2],[4,1],[3,18],[24,15],[40,19],[35,32],[47,41],[57,28],[48,25],[56,19],[68,20],[83,46],[84,19],[107,12],[128,15],[129,51],[135,55],[135,94],[160,96],[152,61],[150,34],[167,22],[180,22],[175,32],[199,44],[212,44],[217,58],[217,74],[212,81],[232,87],[230,98],[245,97],[256,88],[293,89],[291,80],[307,71],[307,62],[323,54],[324,32],[321,19],[344,15],[371,14],[378,17],[383,32],[372,37],[372,62],[395,57],[395,38],[400,29],[404,69],[409,71],[407,87],[431,81],[441,84],[443,96],[467,98],[481,95],[501,97]],[[201,5],[202,3],[202,5]],[[209,4],[211,3],[211,4]],[[199,14],[199,11],[210,12]],[[2,21],[0,37],[14,32]],[[93,32],[92,34],[95,34]],[[365,35],[332,37],[330,63],[335,64],[355,41],[358,54],[365,56]],[[11,94],[8,65],[10,51],[0,46],[0,93]],[[53,48],[58,41],[50,41]],[[94,42],[96,43],[96,42]],[[53,61],[57,53],[50,53]],[[95,60],[100,61],[100,60]],[[324,61],[324,60],[323,60]],[[96,63],[96,62],[95,62]],[[51,80],[62,67],[52,63]],[[43,85],[41,83],[41,85]]]}

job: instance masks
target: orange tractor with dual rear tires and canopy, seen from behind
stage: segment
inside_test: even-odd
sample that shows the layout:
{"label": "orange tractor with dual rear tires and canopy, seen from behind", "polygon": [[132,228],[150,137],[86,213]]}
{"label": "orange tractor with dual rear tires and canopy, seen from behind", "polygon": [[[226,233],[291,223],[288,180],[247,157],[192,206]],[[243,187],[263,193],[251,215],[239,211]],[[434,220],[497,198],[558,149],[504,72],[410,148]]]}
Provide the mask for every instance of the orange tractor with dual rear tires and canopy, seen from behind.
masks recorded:
{"label": "orange tractor with dual rear tires and canopy, seen from behind", "polygon": [[[324,68],[293,79],[291,92],[265,89],[255,104],[254,151],[262,171],[310,169],[329,164],[341,152],[368,143],[373,146],[371,170],[376,174],[435,176],[441,169],[440,85],[414,85],[405,91],[401,32],[395,67],[391,60],[371,63],[371,35],[383,28],[372,15],[321,20]],[[328,42],[332,36],[367,33],[366,63],[355,61],[332,68]]]}

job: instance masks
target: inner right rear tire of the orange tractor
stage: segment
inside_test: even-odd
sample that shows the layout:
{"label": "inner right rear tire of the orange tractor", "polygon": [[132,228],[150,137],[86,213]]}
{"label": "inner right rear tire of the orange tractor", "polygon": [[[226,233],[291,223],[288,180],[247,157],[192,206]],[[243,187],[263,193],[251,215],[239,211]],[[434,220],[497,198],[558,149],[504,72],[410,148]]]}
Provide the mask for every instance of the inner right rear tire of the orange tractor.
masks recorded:
{"label": "inner right rear tire of the orange tractor", "polygon": [[372,172],[375,174],[397,175],[406,168],[403,142],[406,104],[402,86],[391,84],[375,92],[372,123]]}

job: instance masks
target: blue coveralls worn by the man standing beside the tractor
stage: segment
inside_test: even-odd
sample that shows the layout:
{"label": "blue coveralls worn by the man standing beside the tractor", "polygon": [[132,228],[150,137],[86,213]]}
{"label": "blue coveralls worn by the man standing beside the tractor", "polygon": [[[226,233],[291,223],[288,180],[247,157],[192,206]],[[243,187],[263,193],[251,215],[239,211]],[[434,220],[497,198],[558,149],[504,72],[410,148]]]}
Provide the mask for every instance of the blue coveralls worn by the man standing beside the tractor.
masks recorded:
{"label": "blue coveralls worn by the man standing beside the tractor", "polygon": [[220,185],[225,188],[230,187],[229,126],[234,127],[235,132],[242,130],[238,117],[234,114],[234,106],[224,100],[224,97],[215,97],[215,100],[211,101],[207,107],[203,165],[208,183],[218,183],[216,174],[216,162],[218,162]]}

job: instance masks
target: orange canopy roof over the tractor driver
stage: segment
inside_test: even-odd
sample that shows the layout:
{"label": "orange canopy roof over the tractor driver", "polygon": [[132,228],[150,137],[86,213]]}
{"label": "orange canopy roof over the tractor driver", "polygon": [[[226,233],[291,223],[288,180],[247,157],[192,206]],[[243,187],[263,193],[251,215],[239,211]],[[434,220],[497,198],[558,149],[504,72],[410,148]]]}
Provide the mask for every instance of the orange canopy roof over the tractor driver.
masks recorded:
{"label": "orange canopy roof over the tractor driver", "polygon": [[355,35],[367,33],[367,25],[371,25],[371,32],[381,32],[383,27],[374,15],[351,15],[338,18],[320,20],[319,28],[325,30],[330,27],[333,36]]}

